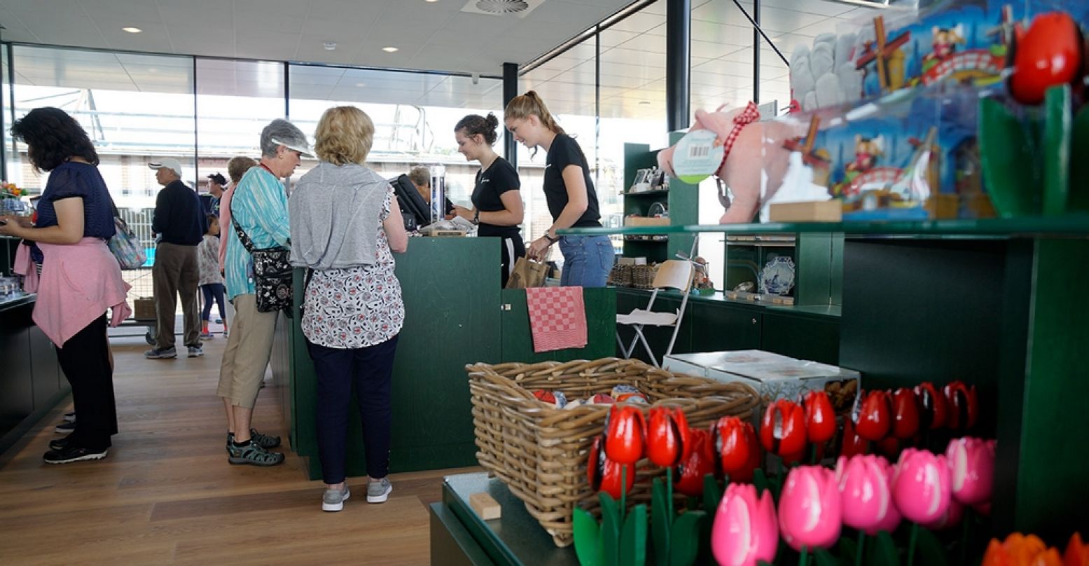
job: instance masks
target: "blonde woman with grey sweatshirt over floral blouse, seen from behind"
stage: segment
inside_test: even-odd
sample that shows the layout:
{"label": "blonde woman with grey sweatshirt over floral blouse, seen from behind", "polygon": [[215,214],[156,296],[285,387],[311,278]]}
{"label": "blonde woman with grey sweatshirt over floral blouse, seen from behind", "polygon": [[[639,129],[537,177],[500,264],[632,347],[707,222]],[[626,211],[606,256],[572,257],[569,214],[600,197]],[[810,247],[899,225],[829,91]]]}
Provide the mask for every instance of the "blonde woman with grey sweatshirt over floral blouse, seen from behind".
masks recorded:
{"label": "blonde woman with grey sweatshirt over floral blouse, seen from behind", "polygon": [[318,455],[322,510],[344,508],[345,442],[356,385],[367,459],[367,502],[392,491],[390,406],[393,354],[404,322],[392,253],[408,247],[389,182],[364,162],[375,125],[355,107],[331,108],[315,133],[321,160],[289,200],[291,261],[313,270],[303,305],[303,334],[318,377]]}

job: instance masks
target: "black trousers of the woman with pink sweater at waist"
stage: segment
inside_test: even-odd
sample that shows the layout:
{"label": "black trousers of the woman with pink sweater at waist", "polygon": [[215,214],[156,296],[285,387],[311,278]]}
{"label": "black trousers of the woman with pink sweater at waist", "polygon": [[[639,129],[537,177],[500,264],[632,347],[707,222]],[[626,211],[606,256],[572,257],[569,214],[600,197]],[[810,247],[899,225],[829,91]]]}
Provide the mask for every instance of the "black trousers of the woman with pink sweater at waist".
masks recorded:
{"label": "black trousers of the woman with pink sweater at waist", "polygon": [[70,444],[91,450],[108,448],[118,433],[118,405],[113,398],[113,368],[106,315],[84,327],[57,348],[64,377],[72,385],[75,432]]}

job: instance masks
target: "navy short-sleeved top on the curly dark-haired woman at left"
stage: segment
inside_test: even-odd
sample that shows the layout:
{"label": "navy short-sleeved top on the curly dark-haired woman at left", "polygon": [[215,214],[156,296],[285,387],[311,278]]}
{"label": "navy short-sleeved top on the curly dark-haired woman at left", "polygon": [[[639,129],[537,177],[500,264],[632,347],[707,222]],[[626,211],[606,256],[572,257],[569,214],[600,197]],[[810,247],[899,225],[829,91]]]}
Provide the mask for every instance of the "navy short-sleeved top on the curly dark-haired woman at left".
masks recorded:
{"label": "navy short-sleeved top on the curly dark-haired woman at left", "polygon": [[[49,174],[46,190],[38,199],[37,227],[57,225],[57,209],[53,202],[78,197],[83,199],[83,235],[102,239],[113,237],[117,229],[113,224],[113,201],[106,188],[98,168],[89,163],[66,161]],[[41,261],[40,251],[34,246],[32,257]]]}

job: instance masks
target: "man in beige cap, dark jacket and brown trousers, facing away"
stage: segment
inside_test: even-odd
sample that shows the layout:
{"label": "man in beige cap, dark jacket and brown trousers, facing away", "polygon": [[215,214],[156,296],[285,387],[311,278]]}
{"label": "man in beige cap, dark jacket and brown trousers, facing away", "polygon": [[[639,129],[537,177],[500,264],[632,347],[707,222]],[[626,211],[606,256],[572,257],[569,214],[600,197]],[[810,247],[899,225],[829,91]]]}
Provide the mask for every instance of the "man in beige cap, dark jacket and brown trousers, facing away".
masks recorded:
{"label": "man in beige cap, dark jacket and brown trousers, facing away", "polygon": [[203,356],[200,312],[197,309],[197,244],[208,231],[208,219],[196,192],[182,183],[182,164],[175,159],[151,161],[155,179],[162,185],[155,202],[151,232],[159,235],[151,269],[157,312],[155,348],[144,353],[152,359],[178,357],[174,349],[174,310],[182,296],[183,336],[188,356]]}

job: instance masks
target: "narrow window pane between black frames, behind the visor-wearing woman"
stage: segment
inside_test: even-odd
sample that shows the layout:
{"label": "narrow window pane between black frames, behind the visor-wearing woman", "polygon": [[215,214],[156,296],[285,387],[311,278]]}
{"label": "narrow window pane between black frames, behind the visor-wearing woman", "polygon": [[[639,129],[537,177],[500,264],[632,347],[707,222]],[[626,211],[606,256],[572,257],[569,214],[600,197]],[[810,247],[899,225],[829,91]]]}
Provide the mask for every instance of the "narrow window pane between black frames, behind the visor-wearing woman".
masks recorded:
{"label": "narrow window pane between black frames, behind the visor-wearing woman", "polygon": [[234,156],[260,158],[261,130],[284,116],[283,63],[197,59],[197,183],[228,176]]}

